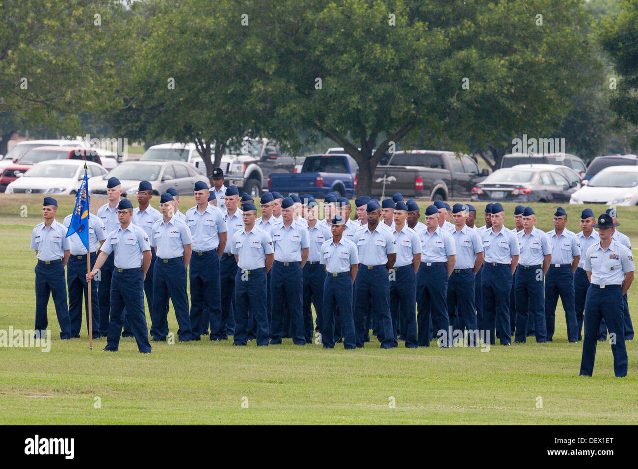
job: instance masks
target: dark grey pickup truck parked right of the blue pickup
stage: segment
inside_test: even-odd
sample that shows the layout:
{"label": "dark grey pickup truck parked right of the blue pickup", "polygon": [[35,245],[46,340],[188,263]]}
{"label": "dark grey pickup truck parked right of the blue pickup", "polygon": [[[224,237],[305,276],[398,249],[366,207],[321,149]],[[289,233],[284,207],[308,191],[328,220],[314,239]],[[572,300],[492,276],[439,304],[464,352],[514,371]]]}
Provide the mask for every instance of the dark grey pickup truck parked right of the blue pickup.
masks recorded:
{"label": "dark grey pickup truck parked right of the blue pickup", "polygon": [[452,151],[397,151],[383,156],[376,167],[372,196],[380,197],[385,181],[385,196],[401,192],[405,197],[430,200],[470,198],[471,190],[489,171],[467,155],[460,158]]}

